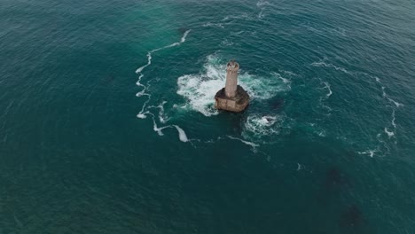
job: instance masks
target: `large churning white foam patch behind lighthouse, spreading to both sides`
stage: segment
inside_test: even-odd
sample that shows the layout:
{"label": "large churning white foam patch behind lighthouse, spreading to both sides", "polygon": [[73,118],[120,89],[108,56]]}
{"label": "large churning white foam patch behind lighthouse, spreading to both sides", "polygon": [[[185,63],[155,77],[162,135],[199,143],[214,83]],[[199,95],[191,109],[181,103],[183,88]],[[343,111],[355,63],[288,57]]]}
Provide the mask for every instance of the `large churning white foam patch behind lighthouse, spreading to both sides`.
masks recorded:
{"label": "large churning white foam patch behind lighthouse, spreading to both sides", "polygon": [[[225,63],[216,56],[208,56],[201,74],[185,74],[177,79],[177,94],[187,99],[188,107],[206,116],[218,112],[214,108],[215,93],[223,88],[226,80]],[[239,83],[251,98],[269,99],[290,90],[290,82],[278,73],[268,77],[239,74]]]}

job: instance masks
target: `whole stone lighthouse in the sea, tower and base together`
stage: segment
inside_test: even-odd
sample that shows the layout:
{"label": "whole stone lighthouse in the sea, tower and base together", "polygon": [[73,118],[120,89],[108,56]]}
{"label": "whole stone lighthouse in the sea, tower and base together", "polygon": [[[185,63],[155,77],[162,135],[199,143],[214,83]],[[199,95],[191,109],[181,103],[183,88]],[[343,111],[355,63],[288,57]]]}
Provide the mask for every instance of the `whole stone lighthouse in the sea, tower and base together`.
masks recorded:
{"label": "whole stone lighthouse in the sea, tower and base together", "polygon": [[239,63],[231,60],[226,66],[226,83],[215,95],[215,107],[230,112],[241,112],[249,104],[249,95],[238,85]]}

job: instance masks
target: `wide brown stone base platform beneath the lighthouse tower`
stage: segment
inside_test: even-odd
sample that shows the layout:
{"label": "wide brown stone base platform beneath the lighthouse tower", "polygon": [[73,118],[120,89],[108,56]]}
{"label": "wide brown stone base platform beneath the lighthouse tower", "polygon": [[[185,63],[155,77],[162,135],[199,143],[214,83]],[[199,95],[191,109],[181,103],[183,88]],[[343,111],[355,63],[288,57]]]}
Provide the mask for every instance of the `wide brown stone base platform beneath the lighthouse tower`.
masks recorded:
{"label": "wide brown stone base platform beneath the lighthouse tower", "polygon": [[215,108],[229,112],[239,113],[249,105],[249,95],[247,91],[238,85],[237,94],[234,98],[225,95],[225,89],[217,91],[215,95]]}

